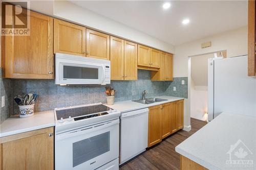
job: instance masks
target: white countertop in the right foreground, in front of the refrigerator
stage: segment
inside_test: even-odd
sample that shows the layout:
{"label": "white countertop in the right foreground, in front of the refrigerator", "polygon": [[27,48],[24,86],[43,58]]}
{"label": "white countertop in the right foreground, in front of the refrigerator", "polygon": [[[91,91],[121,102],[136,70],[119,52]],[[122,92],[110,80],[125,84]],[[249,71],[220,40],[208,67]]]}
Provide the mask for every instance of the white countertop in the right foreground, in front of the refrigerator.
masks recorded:
{"label": "white countertop in the right foreground, in front of the refrigerator", "polygon": [[[245,158],[234,155],[240,148],[247,152]],[[239,169],[255,169],[256,117],[222,113],[177,145],[175,150],[208,169],[236,169],[226,163],[230,160],[227,153],[230,151],[231,160],[253,160],[253,167]]]}

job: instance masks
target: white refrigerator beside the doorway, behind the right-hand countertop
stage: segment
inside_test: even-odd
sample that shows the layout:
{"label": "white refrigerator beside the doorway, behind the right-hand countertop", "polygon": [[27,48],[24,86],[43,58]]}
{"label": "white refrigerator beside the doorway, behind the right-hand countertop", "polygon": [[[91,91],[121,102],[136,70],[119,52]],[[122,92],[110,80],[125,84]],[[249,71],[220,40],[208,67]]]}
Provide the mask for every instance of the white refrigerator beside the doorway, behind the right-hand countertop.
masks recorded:
{"label": "white refrigerator beside the doorway, behind the right-hand countertop", "polygon": [[208,59],[208,121],[222,112],[256,116],[256,78],[248,56]]}

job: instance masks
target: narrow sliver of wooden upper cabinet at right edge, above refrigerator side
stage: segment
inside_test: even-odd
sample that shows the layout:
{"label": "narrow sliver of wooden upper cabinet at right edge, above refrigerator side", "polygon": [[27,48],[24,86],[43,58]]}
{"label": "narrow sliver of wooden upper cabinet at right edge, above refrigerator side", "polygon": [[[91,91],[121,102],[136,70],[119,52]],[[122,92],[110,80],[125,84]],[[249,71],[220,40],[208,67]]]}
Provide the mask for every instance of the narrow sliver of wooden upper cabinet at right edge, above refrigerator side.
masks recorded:
{"label": "narrow sliver of wooden upper cabinet at right edge, above refrigerator side", "polygon": [[255,1],[248,1],[248,76],[256,76]]}

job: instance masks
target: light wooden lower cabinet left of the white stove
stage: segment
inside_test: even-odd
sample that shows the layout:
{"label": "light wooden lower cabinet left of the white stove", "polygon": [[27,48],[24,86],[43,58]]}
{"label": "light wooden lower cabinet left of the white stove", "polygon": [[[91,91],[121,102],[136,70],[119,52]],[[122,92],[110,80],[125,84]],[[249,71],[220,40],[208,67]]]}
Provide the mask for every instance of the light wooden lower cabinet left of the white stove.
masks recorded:
{"label": "light wooden lower cabinet left of the white stove", "polygon": [[10,135],[1,140],[1,170],[54,169],[53,127]]}

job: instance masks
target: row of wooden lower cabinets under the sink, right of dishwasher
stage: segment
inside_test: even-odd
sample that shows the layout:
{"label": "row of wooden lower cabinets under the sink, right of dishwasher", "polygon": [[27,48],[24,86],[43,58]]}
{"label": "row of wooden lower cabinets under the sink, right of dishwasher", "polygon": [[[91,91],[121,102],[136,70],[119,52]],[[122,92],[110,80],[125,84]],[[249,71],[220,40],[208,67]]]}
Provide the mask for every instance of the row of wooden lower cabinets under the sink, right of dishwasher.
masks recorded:
{"label": "row of wooden lower cabinets under the sink, right of dishwasher", "polygon": [[163,138],[183,128],[183,101],[148,108],[147,147],[152,147],[161,142]]}

